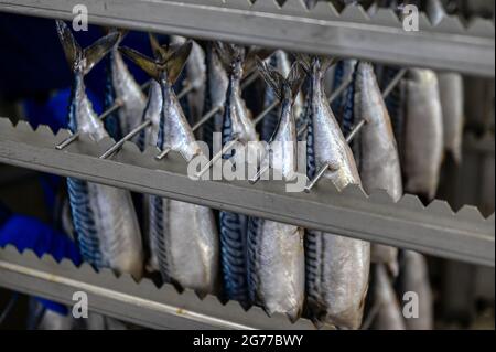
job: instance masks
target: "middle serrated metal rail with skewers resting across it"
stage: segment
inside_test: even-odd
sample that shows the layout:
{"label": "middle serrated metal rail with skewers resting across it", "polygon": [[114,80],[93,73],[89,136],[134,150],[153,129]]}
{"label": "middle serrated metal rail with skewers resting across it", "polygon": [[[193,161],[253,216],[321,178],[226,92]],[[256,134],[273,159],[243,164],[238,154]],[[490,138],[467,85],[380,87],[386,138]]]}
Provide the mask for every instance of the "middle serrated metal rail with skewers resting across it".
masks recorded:
{"label": "middle serrated metal rail with skewers resting across it", "polygon": [[99,159],[114,141],[95,143],[86,136],[66,150],[54,146],[68,137],[42,126],[36,131],[25,122],[17,127],[0,118],[0,162],[74,177],[93,182],[157,194],[174,200],[244,213],[257,217],[322,230],[409,248],[457,260],[495,265],[495,216],[484,218],[473,206],[454,213],[446,202],[427,207],[413,195],[398,203],[378,190],[369,196],[355,186],[337,192],[322,180],[310,193],[288,193],[281,181],[195,181],[177,153],[157,161],[157,150],[140,152],[125,143],[112,159]]}

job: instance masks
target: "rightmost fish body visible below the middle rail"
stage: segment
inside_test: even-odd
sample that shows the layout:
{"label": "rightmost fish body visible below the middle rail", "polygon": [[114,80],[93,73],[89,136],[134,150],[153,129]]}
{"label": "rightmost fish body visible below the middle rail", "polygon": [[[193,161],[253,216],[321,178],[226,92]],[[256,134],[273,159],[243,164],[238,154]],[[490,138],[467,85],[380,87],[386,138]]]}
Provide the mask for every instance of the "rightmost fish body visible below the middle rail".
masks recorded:
{"label": "rightmost fish body visible below the middle rail", "polygon": [[416,292],[419,297],[419,318],[406,319],[408,330],[432,330],[434,327],[433,295],[425,257],[405,250],[400,268],[401,292]]}

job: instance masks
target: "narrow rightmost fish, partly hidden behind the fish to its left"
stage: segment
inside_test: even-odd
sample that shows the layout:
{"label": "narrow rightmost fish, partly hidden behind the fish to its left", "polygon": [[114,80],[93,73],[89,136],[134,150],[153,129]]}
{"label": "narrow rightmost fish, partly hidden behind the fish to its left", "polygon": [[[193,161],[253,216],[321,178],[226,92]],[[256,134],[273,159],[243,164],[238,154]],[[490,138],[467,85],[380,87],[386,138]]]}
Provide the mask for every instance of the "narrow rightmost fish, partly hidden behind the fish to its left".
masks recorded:
{"label": "narrow rightmost fish, partly hidden behind the fish to its left", "polygon": [[463,77],[457,73],[439,73],[438,79],[443,111],[444,150],[460,163],[464,127]]}

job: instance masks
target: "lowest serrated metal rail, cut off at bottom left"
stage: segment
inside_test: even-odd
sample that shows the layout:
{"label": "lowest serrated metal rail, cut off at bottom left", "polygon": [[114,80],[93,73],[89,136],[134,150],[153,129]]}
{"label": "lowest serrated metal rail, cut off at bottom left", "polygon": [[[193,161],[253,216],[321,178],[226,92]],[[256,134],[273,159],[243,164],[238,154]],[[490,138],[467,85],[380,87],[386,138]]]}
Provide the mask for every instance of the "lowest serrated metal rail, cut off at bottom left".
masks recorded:
{"label": "lowest serrated metal rail, cut off at bottom left", "polygon": [[157,288],[149,279],[117,278],[87,264],[76,268],[69,260],[41,259],[31,250],[0,248],[0,287],[74,305],[73,295],[84,291],[88,309],[153,329],[315,329],[305,319],[291,323],[285,316],[268,317],[260,308],[245,311],[237,302],[222,305],[214,296],[202,300],[191,290],[179,294],[171,285]]}

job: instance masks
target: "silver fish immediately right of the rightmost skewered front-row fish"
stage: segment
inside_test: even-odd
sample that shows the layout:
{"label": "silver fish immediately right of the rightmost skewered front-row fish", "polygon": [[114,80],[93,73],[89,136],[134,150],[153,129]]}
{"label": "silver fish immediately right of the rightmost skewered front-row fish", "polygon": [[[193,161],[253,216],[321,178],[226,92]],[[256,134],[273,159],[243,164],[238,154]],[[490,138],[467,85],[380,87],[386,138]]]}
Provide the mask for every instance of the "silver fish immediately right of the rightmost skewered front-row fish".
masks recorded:
{"label": "silver fish immediately right of the rightmost skewered front-row fish", "polygon": [[[400,159],[391,120],[371,64],[358,64],[355,87],[355,115],[357,120],[366,121],[357,140],[362,185],[367,193],[385,190],[392,201],[398,202],[403,193]],[[396,276],[398,248],[374,244],[371,262],[387,264]]]}

